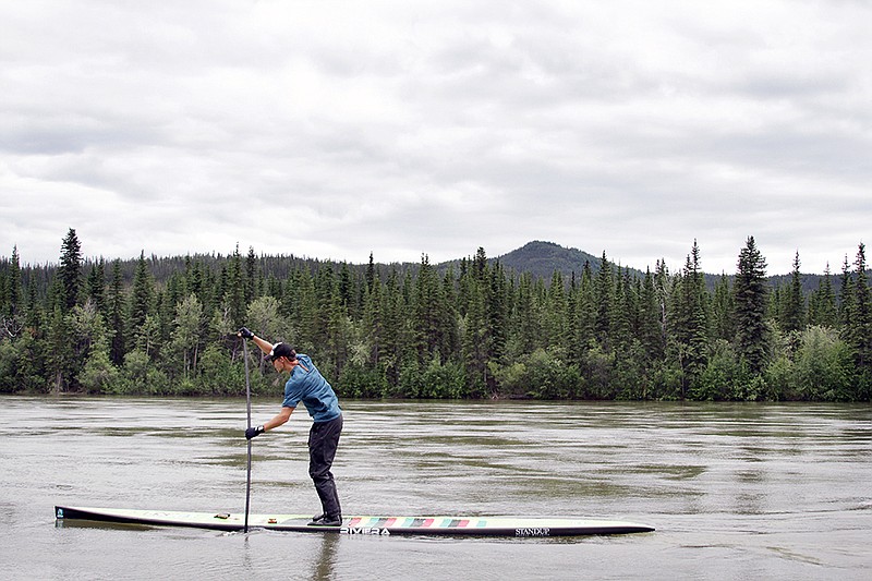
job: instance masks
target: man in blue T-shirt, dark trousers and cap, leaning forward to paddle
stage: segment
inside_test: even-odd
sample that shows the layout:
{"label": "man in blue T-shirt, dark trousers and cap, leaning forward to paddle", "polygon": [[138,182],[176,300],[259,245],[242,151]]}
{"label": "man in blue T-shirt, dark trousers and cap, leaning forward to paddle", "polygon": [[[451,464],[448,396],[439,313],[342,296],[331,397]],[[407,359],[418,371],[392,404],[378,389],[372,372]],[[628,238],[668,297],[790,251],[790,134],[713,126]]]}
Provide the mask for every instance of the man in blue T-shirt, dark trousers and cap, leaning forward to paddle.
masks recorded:
{"label": "man in blue T-shirt, dark trousers and cap, leaning forward to paddle", "polygon": [[342,410],[339,399],[329,383],[322,376],[308,355],[296,353],[289,344],[278,342],[271,344],[242,327],[239,336],[251,339],[267,354],[267,361],[279,373],[288,372],[288,383],[284,384],[284,401],[281,411],[262,425],[250,427],[245,437],[268,432],[284,424],[301,401],[312,416],[312,429],[308,432],[308,475],[315,483],[323,511],[312,519],[312,526],[340,526],[342,524],[342,509],[339,506],[339,495],[336,492],[336,482],[330,472],[334,463],[339,436],[342,433]]}

